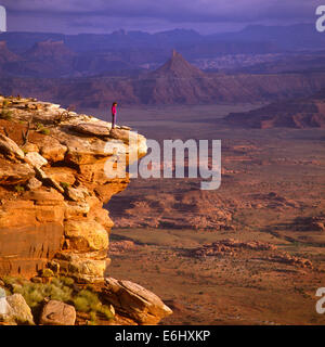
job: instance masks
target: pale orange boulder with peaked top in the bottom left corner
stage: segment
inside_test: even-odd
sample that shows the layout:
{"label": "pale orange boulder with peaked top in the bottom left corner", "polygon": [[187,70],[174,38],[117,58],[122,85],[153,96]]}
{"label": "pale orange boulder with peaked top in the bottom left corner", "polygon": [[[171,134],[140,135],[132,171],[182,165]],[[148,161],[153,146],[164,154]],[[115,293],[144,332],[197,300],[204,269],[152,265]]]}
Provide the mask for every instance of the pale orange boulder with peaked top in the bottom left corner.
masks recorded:
{"label": "pale orange boulder with peaked top in the bottom left corner", "polygon": [[30,307],[26,304],[22,294],[14,294],[5,298],[4,313],[0,312],[0,321],[4,324],[35,325]]}

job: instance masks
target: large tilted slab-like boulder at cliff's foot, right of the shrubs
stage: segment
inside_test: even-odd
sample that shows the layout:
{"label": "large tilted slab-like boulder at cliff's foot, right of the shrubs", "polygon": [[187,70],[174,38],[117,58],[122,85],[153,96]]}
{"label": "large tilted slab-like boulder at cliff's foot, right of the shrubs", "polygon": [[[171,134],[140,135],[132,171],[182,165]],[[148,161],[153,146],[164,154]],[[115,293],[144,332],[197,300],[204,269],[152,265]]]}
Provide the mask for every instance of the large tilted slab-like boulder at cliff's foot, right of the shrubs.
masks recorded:
{"label": "large tilted slab-like boulder at cliff's foot, right of the shrubs", "polygon": [[130,281],[106,278],[103,291],[105,300],[110,303],[117,312],[142,325],[157,324],[172,313],[157,295]]}

